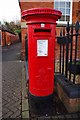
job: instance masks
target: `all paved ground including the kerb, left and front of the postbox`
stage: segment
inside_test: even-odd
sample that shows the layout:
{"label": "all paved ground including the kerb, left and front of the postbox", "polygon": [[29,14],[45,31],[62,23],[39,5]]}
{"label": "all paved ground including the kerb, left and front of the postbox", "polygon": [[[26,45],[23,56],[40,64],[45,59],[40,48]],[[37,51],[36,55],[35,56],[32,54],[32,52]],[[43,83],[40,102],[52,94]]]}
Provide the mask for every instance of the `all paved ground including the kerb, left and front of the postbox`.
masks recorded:
{"label": "all paved ground including the kerb, left and front of the postbox", "polygon": [[21,61],[20,53],[21,43],[2,49],[2,120],[79,120],[79,112],[57,113],[54,116],[36,116],[30,112],[28,84],[26,84],[27,62]]}

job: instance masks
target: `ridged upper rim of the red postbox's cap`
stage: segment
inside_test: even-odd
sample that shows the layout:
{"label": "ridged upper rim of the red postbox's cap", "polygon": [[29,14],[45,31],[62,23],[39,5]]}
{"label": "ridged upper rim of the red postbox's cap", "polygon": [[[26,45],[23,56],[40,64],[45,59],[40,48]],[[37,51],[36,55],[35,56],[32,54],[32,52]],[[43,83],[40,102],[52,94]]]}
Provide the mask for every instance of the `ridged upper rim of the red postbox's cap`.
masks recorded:
{"label": "ridged upper rim of the red postbox's cap", "polygon": [[58,16],[59,18],[62,15],[61,11],[52,8],[32,8],[32,9],[24,10],[22,12],[22,18],[24,18],[27,15],[41,15],[41,14],[55,15]]}

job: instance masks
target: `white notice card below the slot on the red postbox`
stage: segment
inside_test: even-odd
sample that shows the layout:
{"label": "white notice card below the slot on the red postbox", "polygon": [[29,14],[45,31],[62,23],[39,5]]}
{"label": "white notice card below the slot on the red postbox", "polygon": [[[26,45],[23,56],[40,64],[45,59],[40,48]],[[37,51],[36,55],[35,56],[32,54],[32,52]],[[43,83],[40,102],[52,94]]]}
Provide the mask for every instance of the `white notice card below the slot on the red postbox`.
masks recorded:
{"label": "white notice card below the slot on the red postbox", "polygon": [[48,40],[37,40],[37,56],[48,56]]}

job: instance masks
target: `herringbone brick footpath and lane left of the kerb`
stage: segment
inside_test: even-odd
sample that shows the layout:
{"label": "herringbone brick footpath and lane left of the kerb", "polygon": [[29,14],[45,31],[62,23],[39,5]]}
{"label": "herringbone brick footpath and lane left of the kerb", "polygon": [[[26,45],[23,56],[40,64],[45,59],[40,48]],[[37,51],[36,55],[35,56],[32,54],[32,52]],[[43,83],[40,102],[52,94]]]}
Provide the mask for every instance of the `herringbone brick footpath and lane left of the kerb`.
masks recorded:
{"label": "herringbone brick footpath and lane left of the kerb", "polygon": [[2,118],[21,119],[21,43],[2,50]]}

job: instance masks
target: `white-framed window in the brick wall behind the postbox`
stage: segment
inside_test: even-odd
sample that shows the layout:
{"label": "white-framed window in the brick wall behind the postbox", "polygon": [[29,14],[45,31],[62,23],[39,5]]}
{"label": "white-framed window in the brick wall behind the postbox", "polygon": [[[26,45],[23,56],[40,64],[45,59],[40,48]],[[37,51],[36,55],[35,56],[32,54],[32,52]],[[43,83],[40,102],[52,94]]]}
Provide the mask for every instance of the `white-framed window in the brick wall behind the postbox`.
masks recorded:
{"label": "white-framed window in the brick wall behind the postbox", "polygon": [[72,0],[54,0],[54,9],[62,12],[62,17],[57,23],[66,24],[67,21],[72,23]]}

